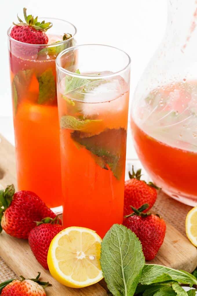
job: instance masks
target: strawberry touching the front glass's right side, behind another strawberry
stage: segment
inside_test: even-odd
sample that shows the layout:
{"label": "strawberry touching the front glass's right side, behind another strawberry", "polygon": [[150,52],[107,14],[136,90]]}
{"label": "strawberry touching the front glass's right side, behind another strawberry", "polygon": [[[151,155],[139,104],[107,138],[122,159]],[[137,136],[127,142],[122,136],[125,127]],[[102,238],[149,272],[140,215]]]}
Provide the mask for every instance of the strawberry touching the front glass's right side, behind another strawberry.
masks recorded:
{"label": "strawberry touching the front glass's right side, behind another strawberry", "polygon": [[146,184],[145,181],[140,180],[141,169],[135,173],[132,167],[132,175],[129,172],[130,179],[125,181],[124,192],[124,215],[129,215],[132,210],[130,205],[135,208],[139,208],[145,203],[149,204],[149,207],[144,211],[147,212],[152,208],[157,199],[157,190],[160,189],[152,182]]}

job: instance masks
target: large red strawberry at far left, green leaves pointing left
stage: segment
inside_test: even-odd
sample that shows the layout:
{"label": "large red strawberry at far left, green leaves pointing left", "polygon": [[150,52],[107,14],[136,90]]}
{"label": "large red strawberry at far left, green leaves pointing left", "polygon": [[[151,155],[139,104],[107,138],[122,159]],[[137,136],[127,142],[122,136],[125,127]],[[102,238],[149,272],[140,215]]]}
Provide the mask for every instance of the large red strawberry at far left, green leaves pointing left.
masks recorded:
{"label": "large red strawberry at far left, green leaves pointing left", "polygon": [[[13,237],[28,239],[30,231],[36,226],[35,221],[41,221],[45,217],[54,219],[56,215],[37,194],[25,190],[14,192],[14,185],[0,190],[1,227]],[[58,220],[61,224],[61,220]]]}

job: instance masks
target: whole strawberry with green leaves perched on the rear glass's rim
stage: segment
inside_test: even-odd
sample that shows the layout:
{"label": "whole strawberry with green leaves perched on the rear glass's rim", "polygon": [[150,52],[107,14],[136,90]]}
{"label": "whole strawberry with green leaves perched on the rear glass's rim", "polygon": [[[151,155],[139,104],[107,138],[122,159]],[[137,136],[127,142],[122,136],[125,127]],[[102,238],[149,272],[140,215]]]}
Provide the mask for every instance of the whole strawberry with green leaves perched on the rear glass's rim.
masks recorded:
{"label": "whole strawberry with green leaves perched on the rear glass's rim", "polygon": [[51,22],[38,22],[38,17],[26,14],[26,8],[23,8],[23,13],[25,17],[25,22],[23,22],[19,17],[19,23],[14,24],[10,32],[10,36],[17,41],[21,41],[29,44],[47,44],[48,36],[45,32],[52,27]]}

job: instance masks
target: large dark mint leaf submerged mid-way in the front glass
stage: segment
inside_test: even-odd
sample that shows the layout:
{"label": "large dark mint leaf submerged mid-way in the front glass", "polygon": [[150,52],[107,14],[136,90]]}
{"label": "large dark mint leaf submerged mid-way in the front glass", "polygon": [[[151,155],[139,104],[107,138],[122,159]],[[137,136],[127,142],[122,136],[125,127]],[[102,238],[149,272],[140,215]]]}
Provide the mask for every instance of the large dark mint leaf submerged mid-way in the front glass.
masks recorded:
{"label": "large dark mint leaf submerged mid-way in the front glass", "polygon": [[[120,179],[125,169],[126,130],[105,129],[99,134],[85,137],[80,131],[71,133],[71,138],[84,146],[93,155],[101,158],[102,168],[110,167],[113,175]],[[105,165],[103,165],[105,163]],[[98,162],[97,162],[98,164]]]}

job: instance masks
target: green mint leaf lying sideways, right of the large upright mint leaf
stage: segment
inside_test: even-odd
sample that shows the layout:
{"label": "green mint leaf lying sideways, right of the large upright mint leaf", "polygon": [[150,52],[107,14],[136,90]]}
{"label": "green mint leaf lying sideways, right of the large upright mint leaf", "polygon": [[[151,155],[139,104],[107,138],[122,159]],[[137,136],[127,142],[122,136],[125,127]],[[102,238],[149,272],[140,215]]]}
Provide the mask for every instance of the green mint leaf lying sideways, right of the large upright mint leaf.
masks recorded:
{"label": "green mint leaf lying sideways, right of the large upright mint leaf", "polygon": [[164,281],[178,281],[193,286],[197,284],[195,276],[186,271],[175,270],[162,265],[146,264],[143,268],[139,283],[153,284]]}

